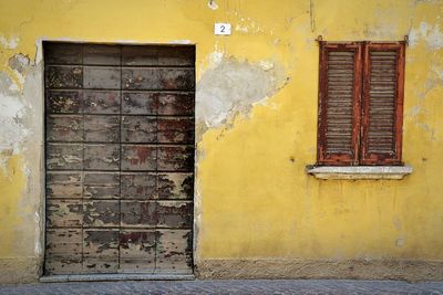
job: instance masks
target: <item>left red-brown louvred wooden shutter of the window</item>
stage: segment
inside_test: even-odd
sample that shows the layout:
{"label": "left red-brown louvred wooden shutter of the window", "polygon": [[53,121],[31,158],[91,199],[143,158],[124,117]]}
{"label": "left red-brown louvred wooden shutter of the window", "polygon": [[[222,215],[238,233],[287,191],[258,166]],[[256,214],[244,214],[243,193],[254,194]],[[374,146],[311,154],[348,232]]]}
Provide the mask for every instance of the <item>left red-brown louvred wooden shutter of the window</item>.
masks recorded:
{"label": "left red-brown louvred wooden shutter of the window", "polygon": [[359,159],[361,45],[320,42],[319,165]]}

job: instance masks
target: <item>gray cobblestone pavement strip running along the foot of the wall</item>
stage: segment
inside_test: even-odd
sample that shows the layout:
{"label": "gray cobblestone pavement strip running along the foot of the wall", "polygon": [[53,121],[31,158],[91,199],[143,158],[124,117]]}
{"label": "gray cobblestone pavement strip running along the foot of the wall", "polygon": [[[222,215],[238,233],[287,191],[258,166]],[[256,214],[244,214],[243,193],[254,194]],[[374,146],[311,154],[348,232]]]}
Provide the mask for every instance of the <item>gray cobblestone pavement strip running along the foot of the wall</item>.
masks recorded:
{"label": "gray cobblestone pavement strip running along the foot of the wall", "polygon": [[0,285],[0,294],[443,294],[443,282],[238,280]]}

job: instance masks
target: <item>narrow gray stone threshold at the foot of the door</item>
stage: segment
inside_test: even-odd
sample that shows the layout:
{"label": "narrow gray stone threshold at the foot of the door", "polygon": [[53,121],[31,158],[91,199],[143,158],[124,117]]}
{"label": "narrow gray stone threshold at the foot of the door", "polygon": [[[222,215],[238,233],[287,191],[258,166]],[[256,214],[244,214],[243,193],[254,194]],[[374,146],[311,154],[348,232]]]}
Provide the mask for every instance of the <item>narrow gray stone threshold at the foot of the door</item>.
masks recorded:
{"label": "narrow gray stone threshold at the foot of the door", "polygon": [[194,281],[194,274],[65,274],[41,276],[41,283],[101,281]]}

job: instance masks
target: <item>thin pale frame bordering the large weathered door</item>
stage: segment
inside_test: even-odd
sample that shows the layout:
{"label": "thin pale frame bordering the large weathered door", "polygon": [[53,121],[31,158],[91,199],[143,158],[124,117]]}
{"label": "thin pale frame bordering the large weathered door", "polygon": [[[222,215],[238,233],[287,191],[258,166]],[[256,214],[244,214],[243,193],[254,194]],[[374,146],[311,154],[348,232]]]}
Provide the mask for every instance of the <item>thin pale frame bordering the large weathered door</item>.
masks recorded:
{"label": "thin pale frame bordering the large weathered door", "polygon": [[[37,85],[39,94],[35,101],[39,101],[41,109],[40,112],[40,129],[39,138],[40,138],[40,218],[39,218],[39,241],[35,245],[35,249],[40,251],[40,267],[39,267],[39,277],[41,282],[81,282],[81,281],[100,281],[106,276],[106,280],[114,281],[124,281],[124,280],[189,280],[190,276],[187,275],[143,275],[143,274],[80,274],[80,275],[44,275],[44,262],[45,262],[45,239],[47,239],[47,148],[45,148],[45,116],[47,116],[47,105],[45,105],[45,61],[44,61],[44,52],[43,52],[43,43],[45,42],[63,42],[63,43],[73,43],[73,44],[105,44],[105,45],[188,45],[195,48],[195,66],[194,66],[194,75],[195,75],[195,89],[194,89],[194,190],[193,190],[193,226],[192,226],[192,277],[195,275],[196,262],[197,262],[197,241],[198,241],[198,232],[200,220],[197,217],[200,214],[200,198],[197,188],[197,164],[198,164],[198,152],[197,152],[197,141],[198,138],[196,122],[197,122],[197,56],[198,56],[198,46],[196,42],[190,41],[171,41],[171,42],[136,42],[136,41],[124,41],[124,40],[115,40],[115,41],[94,41],[86,39],[69,39],[69,38],[41,38],[35,42],[35,67],[38,69],[38,75],[40,76],[40,83]],[[35,95],[33,93],[33,95]],[[27,96],[23,95],[23,98],[27,99]],[[83,277],[82,277],[83,276]]]}

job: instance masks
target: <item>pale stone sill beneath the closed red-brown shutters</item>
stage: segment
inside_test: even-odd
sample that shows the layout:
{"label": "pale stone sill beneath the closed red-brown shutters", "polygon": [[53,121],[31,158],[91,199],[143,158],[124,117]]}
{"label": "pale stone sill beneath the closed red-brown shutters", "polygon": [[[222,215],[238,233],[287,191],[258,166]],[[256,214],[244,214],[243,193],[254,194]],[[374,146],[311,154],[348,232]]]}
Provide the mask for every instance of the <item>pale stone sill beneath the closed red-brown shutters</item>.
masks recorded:
{"label": "pale stone sill beneath the closed red-brown shutters", "polygon": [[403,179],[412,173],[411,166],[307,166],[306,171],[318,179]]}

